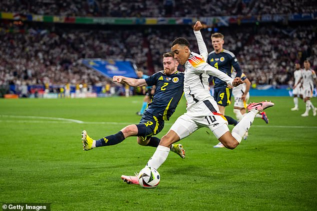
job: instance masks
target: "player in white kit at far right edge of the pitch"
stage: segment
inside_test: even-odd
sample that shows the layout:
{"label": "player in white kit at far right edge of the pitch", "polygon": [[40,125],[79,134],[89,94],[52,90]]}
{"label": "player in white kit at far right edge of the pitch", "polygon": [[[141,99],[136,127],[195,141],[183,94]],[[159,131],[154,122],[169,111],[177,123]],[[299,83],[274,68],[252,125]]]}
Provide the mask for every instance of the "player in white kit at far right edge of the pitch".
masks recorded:
{"label": "player in white kit at far right edge of the pitch", "polygon": [[[304,102],[306,103],[306,110],[305,113],[303,113],[302,117],[307,117],[308,112],[310,110],[310,107],[312,108],[312,114],[313,116],[317,115],[317,108],[315,108],[312,103],[310,102],[310,98],[312,97],[312,91],[313,91],[313,84],[314,81],[316,81],[317,84],[317,77],[315,74],[315,71],[310,69],[310,63],[308,60],[304,61],[304,69],[301,72],[301,78],[302,79],[302,90],[303,94],[302,97],[304,99]],[[300,83],[300,79],[297,84],[295,84],[294,88],[298,86]]]}

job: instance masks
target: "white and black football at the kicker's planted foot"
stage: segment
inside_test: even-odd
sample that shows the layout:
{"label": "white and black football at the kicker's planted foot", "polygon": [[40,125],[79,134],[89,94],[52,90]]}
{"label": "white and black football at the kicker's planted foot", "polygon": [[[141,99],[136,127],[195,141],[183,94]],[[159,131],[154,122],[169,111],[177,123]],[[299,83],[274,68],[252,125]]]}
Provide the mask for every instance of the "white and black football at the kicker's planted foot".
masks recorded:
{"label": "white and black football at the kicker's planted foot", "polygon": [[142,188],[155,188],[160,180],[159,173],[150,167],[143,168],[137,175],[138,184]]}

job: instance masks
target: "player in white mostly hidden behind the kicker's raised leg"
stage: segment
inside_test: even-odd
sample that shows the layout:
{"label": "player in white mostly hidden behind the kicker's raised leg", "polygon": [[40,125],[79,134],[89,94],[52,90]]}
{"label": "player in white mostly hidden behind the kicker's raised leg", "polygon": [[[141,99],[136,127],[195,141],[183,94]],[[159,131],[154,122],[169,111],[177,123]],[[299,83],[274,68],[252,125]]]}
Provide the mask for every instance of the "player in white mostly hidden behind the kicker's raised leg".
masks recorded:
{"label": "player in white mostly hidden behind the kicker's raised leg", "polygon": [[[235,78],[235,75],[236,72],[233,71],[231,73],[231,77]],[[237,87],[232,88],[232,94],[234,96],[233,113],[235,114],[235,117],[238,121],[242,119],[243,115],[246,112],[246,105],[250,97],[249,90],[251,86],[250,80],[246,77],[244,73],[241,74],[241,80],[243,81],[243,84],[240,84]],[[263,119],[264,122],[268,124],[268,119],[265,111],[256,114],[255,117]],[[243,139],[247,139],[247,136],[248,132],[245,133]]]}

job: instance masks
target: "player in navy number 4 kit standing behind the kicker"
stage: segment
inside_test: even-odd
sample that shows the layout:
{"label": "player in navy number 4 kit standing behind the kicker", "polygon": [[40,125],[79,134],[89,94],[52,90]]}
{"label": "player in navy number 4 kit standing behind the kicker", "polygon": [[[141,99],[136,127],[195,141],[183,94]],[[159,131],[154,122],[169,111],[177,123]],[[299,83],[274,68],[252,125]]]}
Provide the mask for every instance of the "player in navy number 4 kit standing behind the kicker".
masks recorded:
{"label": "player in navy number 4 kit standing behind the kicker", "polygon": [[[231,77],[232,68],[236,71],[236,77],[241,77],[242,71],[235,58],[235,55],[223,49],[223,34],[211,34],[211,44],[213,51],[208,54],[207,63]],[[225,106],[230,105],[232,87],[227,87],[227,83],[217,77],[213,77],[214,93],[213,98],[217,102],[220,113],[227,119],[228,124],[236,125],[237,121],[232,117],[225,116]],[[214,147],[224,147],[220,142]]]}

